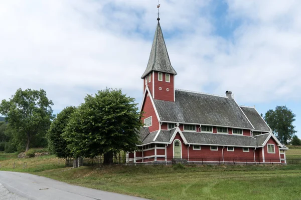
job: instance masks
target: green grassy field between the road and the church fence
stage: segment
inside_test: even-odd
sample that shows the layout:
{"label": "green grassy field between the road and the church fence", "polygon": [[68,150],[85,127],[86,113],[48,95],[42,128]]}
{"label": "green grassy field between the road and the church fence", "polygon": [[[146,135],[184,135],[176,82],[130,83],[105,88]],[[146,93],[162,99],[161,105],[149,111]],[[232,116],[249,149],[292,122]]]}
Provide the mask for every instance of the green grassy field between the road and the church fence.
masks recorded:
{"label": "green grassy field between the road and the church fence", "polygon": [[18,159],[16,154],[1,152],[0,164],[0,170],[30,172],[149,199],[301,199],[301,165],[65,168],[53,155]]}

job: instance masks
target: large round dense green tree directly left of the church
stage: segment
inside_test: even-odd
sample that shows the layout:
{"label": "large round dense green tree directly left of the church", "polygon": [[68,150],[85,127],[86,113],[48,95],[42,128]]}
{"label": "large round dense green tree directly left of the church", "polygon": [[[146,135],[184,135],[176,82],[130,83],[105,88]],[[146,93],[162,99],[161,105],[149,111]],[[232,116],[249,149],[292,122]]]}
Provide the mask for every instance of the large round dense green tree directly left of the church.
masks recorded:
{"label": "large round dense green tree directly left of the church", "polygon": [[64,132],[75,156],[104,154],[104,163],[111,163],[114,153],[137,148],[142,122],[134,98],[122,94],[120,89],[106,88],[84,99]]}

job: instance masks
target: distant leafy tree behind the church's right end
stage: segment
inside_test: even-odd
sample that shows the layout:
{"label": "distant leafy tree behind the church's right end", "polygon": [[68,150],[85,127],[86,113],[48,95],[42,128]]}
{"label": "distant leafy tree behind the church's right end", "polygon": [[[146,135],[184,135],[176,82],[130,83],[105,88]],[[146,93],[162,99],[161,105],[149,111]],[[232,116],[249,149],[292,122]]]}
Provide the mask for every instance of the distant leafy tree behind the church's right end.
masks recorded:
{"label": "distant leafy tree behind the church's right end", "polygon": [[275,110],[269,109],[264,116],[265,121],[273,130],[277,139],[287,144],[296,130],[292,122],[295,120],[296,115],[290,109],[284,106],[276,106]]}

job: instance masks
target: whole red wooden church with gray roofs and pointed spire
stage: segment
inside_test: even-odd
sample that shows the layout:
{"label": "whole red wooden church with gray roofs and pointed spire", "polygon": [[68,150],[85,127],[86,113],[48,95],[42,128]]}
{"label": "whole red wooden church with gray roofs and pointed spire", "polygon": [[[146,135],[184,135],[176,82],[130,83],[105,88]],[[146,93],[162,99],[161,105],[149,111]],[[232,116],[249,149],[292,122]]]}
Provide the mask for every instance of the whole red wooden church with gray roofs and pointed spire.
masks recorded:
{"label": "whole red wooden church with gray roofs and pointed spire", "polygon": [[158,18],[143,79],[141,145],[130,161],[286,163],[286,146],[254,107],[226,96],[175,88],[173,68]]}

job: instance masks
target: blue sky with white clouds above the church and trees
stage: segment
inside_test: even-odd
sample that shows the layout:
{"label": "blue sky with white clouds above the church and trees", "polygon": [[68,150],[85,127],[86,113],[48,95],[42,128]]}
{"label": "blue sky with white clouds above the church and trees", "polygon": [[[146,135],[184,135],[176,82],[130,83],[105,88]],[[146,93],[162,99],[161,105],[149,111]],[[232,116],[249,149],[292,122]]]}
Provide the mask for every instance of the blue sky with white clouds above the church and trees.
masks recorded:
{"label": "blue sky with white clouds above the church and trees", "polygon": [[[175,87],[259,113],[286,105],[301,138],[300,0],[160,0]],[[142,100],[158,0],[9,0],[0,6],[0,99],[40,89],[54,113],[121,88]]]}

